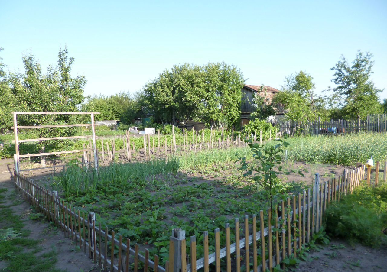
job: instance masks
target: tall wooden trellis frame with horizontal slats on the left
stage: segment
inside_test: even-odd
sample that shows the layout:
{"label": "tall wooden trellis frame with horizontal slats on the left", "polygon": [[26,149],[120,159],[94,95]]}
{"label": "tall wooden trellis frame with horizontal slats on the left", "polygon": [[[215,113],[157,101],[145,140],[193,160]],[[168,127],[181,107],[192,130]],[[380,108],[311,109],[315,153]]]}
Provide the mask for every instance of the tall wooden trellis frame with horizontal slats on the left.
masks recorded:
{"label": "tall wooden trellis frame with horizontal slats on the left", "polygon": [[[94,114],[99,114],[99,112],[53,112],[53,111],[14,111],[12,112],[14,116],[14,126],[12,129],[14,130],[15,134],[15,140],[12,141],[15,143],[15,156],[14,156],[14,163],[15,163],[15,171],[16,173],[20,173],[20,158],[23,157],[40,157],[40,156],[48,156],[48,155],[58,155],[58,154],[68,154],[68,153],[74,153],[74,152],[86,152],[86,151],[94,151],[94,167],[96,171],[98,172],[98,152],[96,147],[96,135],[95,135],[95,124],[94,124]],[[65,125],[36,125],[36,126],[18,126],[17,125],[17,115],[21,114],[40,114],[40,115],[49,115],[49,114],[56,114],[56,115],[72,115],[72,114],[87,114],[91,117],[91,123],[90,124],[65,124]],[[38,138],[38,139],[24,139],[19,140],[18,137],[18,129],[21,128],[58,128],[58,127],[91,127],[92,135],[84,135],[84,136],[66,136],[66,137],[48,137],[48,138]],[[45,153],[36,153],[36,154],[19,154],[19,143],[21,142],[35,142],[35,141],[45,141],[45,140],[61,140],[61,139],[83,139],[83,138],[92,138],[92,147],[89,149],[80,149],[80,150],[70,150],[70,151],[57,151],[57,152],[45,152]],[[45,167],[47,168],[47,167]],[[50,167],[48,167],[50,168]],[[37,170],[37,169],[43,169],[43,168],[35,168],[30,170]]]}

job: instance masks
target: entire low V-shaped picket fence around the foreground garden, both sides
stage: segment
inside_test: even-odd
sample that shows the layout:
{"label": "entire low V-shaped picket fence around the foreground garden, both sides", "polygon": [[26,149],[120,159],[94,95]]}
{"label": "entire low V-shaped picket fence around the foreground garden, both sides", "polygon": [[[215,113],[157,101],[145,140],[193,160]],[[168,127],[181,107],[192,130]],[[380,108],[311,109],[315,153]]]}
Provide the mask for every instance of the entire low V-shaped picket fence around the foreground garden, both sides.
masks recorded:
{"label": "entire low V-shaped picket fence around the foreground garden, both sides", "polygon": [[[384,165],[384,169],[379,169]],[[31,205],[42,212],[46,218],[53,221],[63,230],[65,237],[74,241],[89,257],[98,263],[104,271],[128,271],[130,267],[137,272],[140,267],[144,271],[152,269],[161,272],[190,272],[204,269],[205,272],[221,271],[221,259],[226,263],[226,271],[241,271],[241,257],[244,255],[245,267],[248,271],[272,270],[287,257],[297,257],[298,250],[308,243],[320,230],[324,212],[330,202],[340,201],[342,195],[352,193],[361,184],[367,173],[366,181],[369,186],[378,184],[379,173],[384,173],[386,180],[387,162],[376,162],[376,169],[366,171],[363,165],[352,171],[345,171],[338,178],[320,183],[319,174],[315,176],[313,189],[304,190],[297,195],[289,195],[273,210],[260,210],[258,215],[245,216],[243,228],[239,219],[235,219],[235,241],[231,243],[230,224],[224,226],[226,244],[220,245],[220,230],[215,229],[214,252],[210,252],[208,231],[203,233],[204,257],[197,259],[196,236],[189,241],[185,238],[185,231],[175,229],[170,237],[169,262],[165,267],[159,265],[158,255],[154,261],[149,258],[149,251],[139,253],[139,245],[130,246],[130,239],[124,240],[108,228],[96,226],[95,214],[85,215],[71,204],[61,200],[56,191],[49,191],[35,181],[15,174],[15,186]],[[374,181],[371,174],[375,172]],[[266,223],[265,223],[266,222]],[[240,230],[242,231],[240,232]],[[259,229],[259,230],[257,230]],[[186,245],[190,245],[189,257]],[[115,246],[118,253],[114,254]],[[242,254],[241,254],[242,253]],[[259,258],[260,256],[260,258]],[[258,263],[258,260],[263,260]],[[252,263],[252,265],[250,265]],[[246,270],[247,270],[246,269]],[[251,270],[252,269],[252,270]]]}

